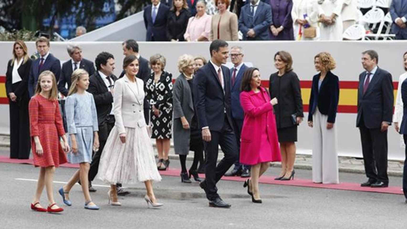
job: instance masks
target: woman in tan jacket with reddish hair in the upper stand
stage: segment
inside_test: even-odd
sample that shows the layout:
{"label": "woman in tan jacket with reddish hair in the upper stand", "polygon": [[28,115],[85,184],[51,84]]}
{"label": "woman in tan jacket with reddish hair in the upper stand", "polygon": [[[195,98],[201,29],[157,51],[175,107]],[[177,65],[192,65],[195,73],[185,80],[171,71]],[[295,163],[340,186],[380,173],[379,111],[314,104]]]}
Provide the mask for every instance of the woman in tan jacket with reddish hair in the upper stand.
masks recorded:
{"label": "woman in tan jacket with reddish hair in the upper stand", "polygon": [[229,0],[215,0],[219,13],[212,16],[209,39],[224,41],[237,41],[237,15],[229,12]]}

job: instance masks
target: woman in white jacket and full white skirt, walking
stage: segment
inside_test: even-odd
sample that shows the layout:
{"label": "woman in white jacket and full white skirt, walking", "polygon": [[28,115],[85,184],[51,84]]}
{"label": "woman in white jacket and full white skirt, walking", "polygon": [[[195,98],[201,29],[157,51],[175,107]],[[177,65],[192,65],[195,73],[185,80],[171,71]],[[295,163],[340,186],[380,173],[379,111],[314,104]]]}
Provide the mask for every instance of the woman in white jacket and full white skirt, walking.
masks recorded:
{"label": "woman in white jacket and full white skirt, walking", "polygon": [[125,77],[114,84],[113,112],[116,122],[107,138],[100,159],[98,179],[110,184],[109,203],[118,202],[116,184],[144,182],[147,205],[160,207],[154,196],[152,181],[161,176],[155,165],[153,146],[144,120],[144,83],[136,77],[139,70],[137,57],[129,55],[123,60]]}

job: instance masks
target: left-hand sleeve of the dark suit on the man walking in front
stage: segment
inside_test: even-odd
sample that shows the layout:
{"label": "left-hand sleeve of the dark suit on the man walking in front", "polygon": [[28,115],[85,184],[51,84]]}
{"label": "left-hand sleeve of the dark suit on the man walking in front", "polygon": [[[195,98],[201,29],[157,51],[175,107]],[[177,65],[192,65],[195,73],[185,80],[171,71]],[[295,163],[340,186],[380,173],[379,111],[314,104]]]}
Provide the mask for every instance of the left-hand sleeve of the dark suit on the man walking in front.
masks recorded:
{"label": "left-hand sleeve of the dark suit on the man walking in front", "polygon": [[197,108],[197,115],[199,120],[199,128],[208,126],[206,120],[206,74],[203,70],[199,69],[194,80],[194,96],[195,107]]}

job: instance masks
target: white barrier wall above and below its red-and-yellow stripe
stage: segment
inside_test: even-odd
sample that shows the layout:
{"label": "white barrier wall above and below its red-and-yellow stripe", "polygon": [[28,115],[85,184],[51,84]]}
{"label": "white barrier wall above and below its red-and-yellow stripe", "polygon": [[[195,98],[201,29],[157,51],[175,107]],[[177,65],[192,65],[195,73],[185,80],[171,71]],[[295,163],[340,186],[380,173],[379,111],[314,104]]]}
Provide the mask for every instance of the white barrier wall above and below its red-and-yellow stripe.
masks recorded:
{"label": "white barrier wall above and below its red-and-yellow stripe", "polygon": [[[123,38],[124,40],[125,38]],[[122,41],[117,42],[79,42],[83,48],[83,56],[94,61],[99,52],[111,52],[116,59],[115,74],[120,74],[123,61]],[[0,42],[0,76],[5,75],[7,61],[11,58],[12,42]],[[149,59],[155,53],[163,54],[167,59],[166,70],[173,73],[174,78],[179,75],[177,71],[177,59],[180,55],[188,53],[191,55],[202,55],[209,59],[208,42],[191,43],[170,43],[170,42],[139,42],[140,54]],[[337,68],[333,70],[339,76],[340,81],[358,81],[359,74],[363,71],[361,66],[361,52],[374,49],[379,53],[379,67],[393,75],[393,81],[398,81],[398,76],[402,74],[402,56],[407,51],[407,41],[240,41],[229,42],[230,46],[239,45],[243,48],[245,61],[251,62],[260,69],[263,80],[268,80],[269,75],[275,72],[272,58],[278,50],[285,50],[293,56],[293,68],[301,81],[311,81],[316,74],[313,66],[313,57],[318,52],[330,52]],[[28,42],[29,53],[35,51],[35,43]],[[53,42],[51,52],[60,60],[69,59],[66,52],[66,43]],[[396,89],[396,88],[395,88]],[[355,89],[349,89],[355,90]],[[341,90],[342,92],[342,90]],[[354,92],[350,92],[350,94]],[[353,96],[352,96],[353,97]],[[348,98],[356,101],[356,98]],[[308,101],[304,101],[308,103]],[[354,104],[356,105],[356,104]],[[8,131],[8,105],[0,105],[1,117],[0,132]],[[298,129],[297,148],[299,153],[311,153],[312,134],[311,128],[306,125],[308,113],[304,113],[304,122]],[[336,123],[338,134],[339,155],[362,157],[359,130],[355,127],[356,113],[338,113]],[[404,159],[404,149],[400,148],[400,135],[394,131],[394,127],[389,128],[389,159]]]}

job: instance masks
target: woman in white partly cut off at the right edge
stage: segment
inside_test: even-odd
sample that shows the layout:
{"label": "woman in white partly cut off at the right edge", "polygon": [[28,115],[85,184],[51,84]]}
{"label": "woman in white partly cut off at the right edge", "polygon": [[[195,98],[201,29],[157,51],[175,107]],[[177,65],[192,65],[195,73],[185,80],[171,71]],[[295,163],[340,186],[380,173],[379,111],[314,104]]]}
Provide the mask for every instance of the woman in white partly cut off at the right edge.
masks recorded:
{"label": "woman in white partly cut off at the right edge", "polygon": [[[400,75],[398,79],[398,87],[397,87],[397,96],[396,96],[396,105],[394,106],[394,128],[396,129],[397,133],[400,131],[400,124],[401,120],[403,120],[403,100],[401,100],[401,84],[405,79],[407,79],[407,52],[403,55],[403,63],[404,63],[404,70],[405,73]],[[403,135],[400,136],[400,147],[405,148]]]}

